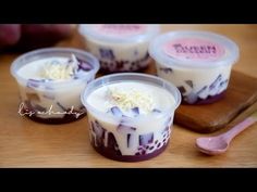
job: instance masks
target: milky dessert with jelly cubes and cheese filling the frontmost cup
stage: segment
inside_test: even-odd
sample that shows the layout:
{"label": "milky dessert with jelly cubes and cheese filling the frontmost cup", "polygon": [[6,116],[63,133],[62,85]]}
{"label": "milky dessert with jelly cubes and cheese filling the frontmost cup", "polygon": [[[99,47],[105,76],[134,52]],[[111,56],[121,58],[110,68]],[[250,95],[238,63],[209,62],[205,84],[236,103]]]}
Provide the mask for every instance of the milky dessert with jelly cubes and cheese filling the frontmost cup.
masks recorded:
{"label": "milky dessert with jelly cubes and cheese filling the frontmost cup", "polygon": [[138,81],[113,82],[93,91],[86,101],[97,111],[88,110],[88,120],[90,141],[98,151],[146,155],[168,143],[176,103],[166,89]]}

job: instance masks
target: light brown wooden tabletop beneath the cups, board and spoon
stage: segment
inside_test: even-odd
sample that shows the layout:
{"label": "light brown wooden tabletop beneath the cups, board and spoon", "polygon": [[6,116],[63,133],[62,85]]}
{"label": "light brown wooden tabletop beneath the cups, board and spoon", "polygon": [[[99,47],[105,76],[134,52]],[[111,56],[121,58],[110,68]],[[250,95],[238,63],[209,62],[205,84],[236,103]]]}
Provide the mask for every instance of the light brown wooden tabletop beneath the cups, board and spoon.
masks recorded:
{"label": "light brown wooden tabletop beneath the cups, board and spoon", "polygon": [[[204,29],[229,36],[241,48],[234,69],[257,77],[257,25],[164,25],[162,29]],[[57,46],[83,48],[83,39],[75,36]],[[171,142],[158,157],[139,163],[107,159],[89,144],[87,118],[49,126],[19,116],[17,86],[10,75],[17,55],[0,53],[0,167],[257,167],[257,125],[237,136],[219,156],[196,150],[195,139],[201,133],[174,125]],[[155,73],[154,65],[147,73]]]}

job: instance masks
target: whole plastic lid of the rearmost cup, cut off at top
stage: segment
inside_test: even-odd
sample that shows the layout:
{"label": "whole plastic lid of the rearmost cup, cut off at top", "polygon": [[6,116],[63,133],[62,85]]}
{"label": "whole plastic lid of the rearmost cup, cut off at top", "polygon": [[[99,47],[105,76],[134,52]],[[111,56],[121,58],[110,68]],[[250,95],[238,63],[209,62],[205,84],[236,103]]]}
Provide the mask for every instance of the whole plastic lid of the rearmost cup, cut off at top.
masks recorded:
{"label": "whole plastic lid of the rearmost cup, cut off at top", "polygon": [[160,27],[144,24],[82,24],[78,30],[87,38],[127,43],[150,40],[160,31]]}

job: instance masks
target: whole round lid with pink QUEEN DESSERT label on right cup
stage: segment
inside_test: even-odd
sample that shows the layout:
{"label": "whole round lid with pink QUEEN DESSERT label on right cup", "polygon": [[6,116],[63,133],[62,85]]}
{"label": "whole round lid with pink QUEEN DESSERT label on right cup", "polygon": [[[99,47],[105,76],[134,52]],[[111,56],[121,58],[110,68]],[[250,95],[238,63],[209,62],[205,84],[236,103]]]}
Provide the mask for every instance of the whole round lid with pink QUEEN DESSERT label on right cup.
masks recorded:
{"label": "whole round lid with pink QUEEN DESSERT label on right cup", "polygon": [[217,67],[238,60],[238,47],[229,38],[208,31],[178,30],[155,38],[149,54],[166,66]]}

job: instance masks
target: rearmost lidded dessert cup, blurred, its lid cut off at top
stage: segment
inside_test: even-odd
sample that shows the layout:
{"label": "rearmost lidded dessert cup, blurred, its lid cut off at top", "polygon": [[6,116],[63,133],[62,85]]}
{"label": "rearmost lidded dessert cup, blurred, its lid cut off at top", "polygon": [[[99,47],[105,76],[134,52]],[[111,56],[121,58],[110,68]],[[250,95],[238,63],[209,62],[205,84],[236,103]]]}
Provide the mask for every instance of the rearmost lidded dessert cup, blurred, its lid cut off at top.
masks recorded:
{"label": "rearmost lidded dessert cup, blurred, its lid cut off at top", "polygon": [[158,25],[79,25],[86,47],[99,59],[103,73],[146,68],[151,61],[148,54],[149,41],[159,30]]}

